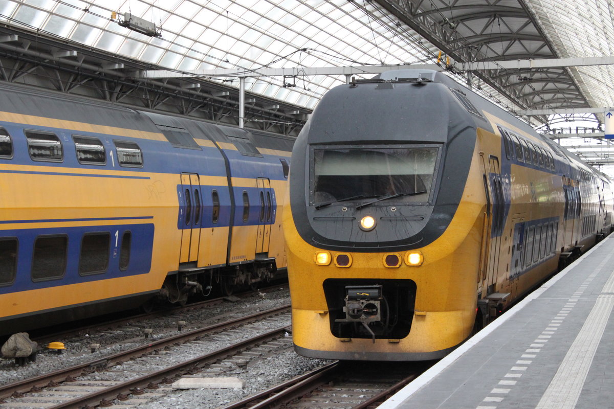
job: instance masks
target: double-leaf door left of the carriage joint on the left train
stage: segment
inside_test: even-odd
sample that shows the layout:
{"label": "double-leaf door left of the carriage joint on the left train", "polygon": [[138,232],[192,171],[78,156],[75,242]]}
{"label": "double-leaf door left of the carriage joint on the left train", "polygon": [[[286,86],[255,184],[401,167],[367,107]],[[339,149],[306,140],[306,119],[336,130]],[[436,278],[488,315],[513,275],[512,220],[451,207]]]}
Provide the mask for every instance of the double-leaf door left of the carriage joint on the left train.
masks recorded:
{"label": "double-leaf door left of the carriage joint on the left train", "polygon": [[180,195],[183,198],[183,208],[180,213],[183,226],[179,262],[197,261],[203,208],[198,174],[181,174]]}

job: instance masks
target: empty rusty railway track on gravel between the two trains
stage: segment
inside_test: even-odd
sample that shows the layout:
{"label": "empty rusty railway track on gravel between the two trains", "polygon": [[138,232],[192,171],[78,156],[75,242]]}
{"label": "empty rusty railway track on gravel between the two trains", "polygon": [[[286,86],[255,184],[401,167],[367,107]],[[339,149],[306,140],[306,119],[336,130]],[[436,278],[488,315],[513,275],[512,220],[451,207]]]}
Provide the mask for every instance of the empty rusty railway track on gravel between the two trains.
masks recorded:
{"label": "empty rusty railway track on gravel between the two trains", "polygon": [[[290,305],[273,308],[242,318],[225,321],[212,326],[187,331],[173,337],[155,340],[112,356],[85,362],[39,377],[0,386],[0,407],[2,408],[82,408],[108,405],[111,400],[136,400],[130,405],[156,399],[168,384],[183,375],[190,375],[219,365],[224,360],[247,362],[256,359],[262,351],[289,349],[292,344],[287,335]],[[273,330],[255,332],[254,323],[269,321]],[[271,322],[272,321],[272,322]],[[276,324],[276,325],[273,325]],[[196,354],[183,362],[173,360],[173,349],[188,348],[201,350],[208,338],[226,337],[230,345]],[[241,340],[237,340],[241,339]],[[251,352],[250,350],[256,350]],[[160,359],[163,356],[170,359]],[[139,369],[139,361],[149,361],[147,369]],[[171,361],[152,370],[152,361]],[[222,365],[223,366],[223,365]],[[219,370],[216,369],[216,372]],[[148,392],[144,392],[148,389]],[[125,405],[123,406],[125,407]]]}

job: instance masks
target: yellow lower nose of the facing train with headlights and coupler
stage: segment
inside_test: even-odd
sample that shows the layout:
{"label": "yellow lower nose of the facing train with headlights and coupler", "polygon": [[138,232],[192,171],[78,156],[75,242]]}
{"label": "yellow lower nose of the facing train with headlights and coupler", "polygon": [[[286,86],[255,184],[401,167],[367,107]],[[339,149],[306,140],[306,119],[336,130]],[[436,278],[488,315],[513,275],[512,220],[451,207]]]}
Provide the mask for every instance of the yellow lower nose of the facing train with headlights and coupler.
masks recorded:
{"label": "yellow lower nose of the facing train with headlights and coupler", "polygon": [[[481,182],[478,152],[473,156],[469,179]],[[330,359],[421,361],[462,343],[475,323],[484,188],[468,183],[462,196],[448,229],[412,250],[329,251],[285,229],[295,350]],[[285,226],[294,223],[289,209],[284,218]]]}

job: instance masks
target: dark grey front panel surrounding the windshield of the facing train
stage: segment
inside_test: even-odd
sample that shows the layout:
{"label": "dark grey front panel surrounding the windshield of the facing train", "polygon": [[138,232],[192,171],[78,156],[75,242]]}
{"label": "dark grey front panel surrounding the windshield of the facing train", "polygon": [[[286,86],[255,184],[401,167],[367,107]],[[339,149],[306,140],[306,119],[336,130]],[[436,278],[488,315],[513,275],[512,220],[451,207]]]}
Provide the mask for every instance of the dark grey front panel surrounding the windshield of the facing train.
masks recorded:
{"label": "dark grey front panel surrounding the windshield of the facing train", "polygon": [[[298,233],[336,251],[404,251],[433,242],[461,202],[475,141],[474,116],[445,83],[334,88],[292,152]],[[360,226],[365,216],[375,228]]]}

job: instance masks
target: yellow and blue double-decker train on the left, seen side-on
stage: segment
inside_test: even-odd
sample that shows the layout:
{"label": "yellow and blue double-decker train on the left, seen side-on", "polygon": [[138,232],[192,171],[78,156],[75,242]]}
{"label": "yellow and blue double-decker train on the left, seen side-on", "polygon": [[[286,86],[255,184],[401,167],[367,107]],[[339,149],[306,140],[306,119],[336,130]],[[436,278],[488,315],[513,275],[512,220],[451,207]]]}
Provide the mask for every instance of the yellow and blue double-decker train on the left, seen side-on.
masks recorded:
{"label": "yellow and blue double-decker train on the left, seen side-on", "polygon": [[0,335],[285,272],[293,142],[0,85]]}

